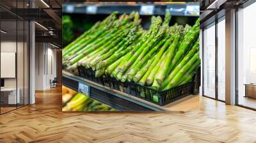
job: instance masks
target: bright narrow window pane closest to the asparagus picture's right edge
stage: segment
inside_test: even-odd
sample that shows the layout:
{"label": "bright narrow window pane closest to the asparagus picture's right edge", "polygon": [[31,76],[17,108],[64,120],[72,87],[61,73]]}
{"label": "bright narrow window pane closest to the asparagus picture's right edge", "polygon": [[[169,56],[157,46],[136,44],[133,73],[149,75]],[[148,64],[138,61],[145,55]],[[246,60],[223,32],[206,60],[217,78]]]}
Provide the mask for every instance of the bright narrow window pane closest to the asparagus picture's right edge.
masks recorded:
{"label": "bright narrow window pane closest to the asparagus picture's right edge", "polygon": [[204,95],[215,98],[215,25],[204,29]]}

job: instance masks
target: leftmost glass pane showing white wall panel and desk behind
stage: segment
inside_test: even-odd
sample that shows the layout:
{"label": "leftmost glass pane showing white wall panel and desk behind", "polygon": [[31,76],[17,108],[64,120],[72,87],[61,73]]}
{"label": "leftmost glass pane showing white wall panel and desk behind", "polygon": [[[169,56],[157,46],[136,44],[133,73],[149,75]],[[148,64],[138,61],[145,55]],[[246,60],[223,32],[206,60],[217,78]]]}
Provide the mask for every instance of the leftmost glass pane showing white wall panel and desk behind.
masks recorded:
{"label": "leftmost glass pane showing white wall panel and desk behind", "polygon": [[[17,21],[1,21],[1,113],[16,109],[17,93]],[[17,96],[18,94],[18,96]]]}

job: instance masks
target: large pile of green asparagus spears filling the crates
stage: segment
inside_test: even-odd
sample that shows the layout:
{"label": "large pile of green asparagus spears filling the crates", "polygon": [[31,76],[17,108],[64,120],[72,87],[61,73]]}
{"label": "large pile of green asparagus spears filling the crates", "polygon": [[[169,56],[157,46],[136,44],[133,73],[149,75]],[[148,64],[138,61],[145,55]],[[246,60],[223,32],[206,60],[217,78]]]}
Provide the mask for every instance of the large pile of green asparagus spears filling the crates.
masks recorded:
{"label": "large pile of green asparagus spears filling the crates", "polygon": [[63,49],[67,70],[84,66],[95,70],[96,77],[108,74],[158,91],[191,82],[200,66],[199,19],[192,27],[169,26],[171,15],[166,12],[164,21],[152,16],[146,31],[138,12],[119,19],[116,14],[97,22]]}

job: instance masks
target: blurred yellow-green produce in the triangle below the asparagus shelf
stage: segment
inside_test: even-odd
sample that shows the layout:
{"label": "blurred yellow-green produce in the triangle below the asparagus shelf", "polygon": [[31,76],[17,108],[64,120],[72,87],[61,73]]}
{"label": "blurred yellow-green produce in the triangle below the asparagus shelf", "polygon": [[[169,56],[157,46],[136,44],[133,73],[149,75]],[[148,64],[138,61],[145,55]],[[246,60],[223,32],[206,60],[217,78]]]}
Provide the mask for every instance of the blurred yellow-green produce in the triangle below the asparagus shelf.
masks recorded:
{"label": "blurred yellow-green produce in the triangle below the asparagus shelf", "polygon": [[62,87],[63,111],[116,111],[65,86]]}

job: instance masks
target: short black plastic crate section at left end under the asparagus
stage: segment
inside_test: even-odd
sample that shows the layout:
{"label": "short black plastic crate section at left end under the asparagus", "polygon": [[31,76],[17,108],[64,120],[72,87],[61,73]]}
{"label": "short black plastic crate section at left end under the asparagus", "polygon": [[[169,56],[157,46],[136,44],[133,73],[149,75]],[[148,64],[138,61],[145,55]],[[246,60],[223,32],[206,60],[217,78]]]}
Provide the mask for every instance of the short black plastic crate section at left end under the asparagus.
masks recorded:
{"label": "short black plastic crate section at left end under the asparagus", "polygon": [[95,71],[92,68],[84,68],[84,66],[79,66],[77,68],[79,76],[84,79],[92,80],[104,86],[104,76],[95,77]]}

